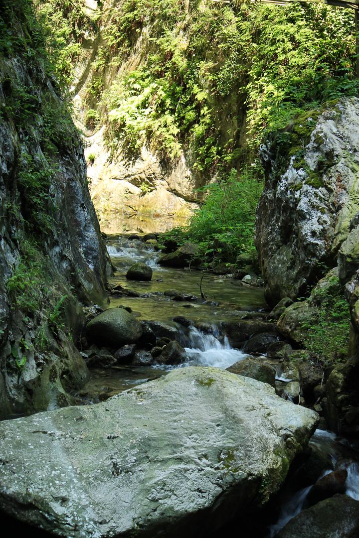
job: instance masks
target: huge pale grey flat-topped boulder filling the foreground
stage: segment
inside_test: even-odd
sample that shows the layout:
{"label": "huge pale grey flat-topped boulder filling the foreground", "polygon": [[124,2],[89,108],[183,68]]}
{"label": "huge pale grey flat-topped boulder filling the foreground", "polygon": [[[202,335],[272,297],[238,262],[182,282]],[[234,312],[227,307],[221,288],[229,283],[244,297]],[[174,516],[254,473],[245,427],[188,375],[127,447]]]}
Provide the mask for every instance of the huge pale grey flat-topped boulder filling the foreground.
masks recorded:
{"label": "huge pale grey flat-topped boulder filling the foreground", "polygon": [[205,536],[278,491],[317,422],[254,379],[173,370],[0,422],[0,507],[60,536]]}

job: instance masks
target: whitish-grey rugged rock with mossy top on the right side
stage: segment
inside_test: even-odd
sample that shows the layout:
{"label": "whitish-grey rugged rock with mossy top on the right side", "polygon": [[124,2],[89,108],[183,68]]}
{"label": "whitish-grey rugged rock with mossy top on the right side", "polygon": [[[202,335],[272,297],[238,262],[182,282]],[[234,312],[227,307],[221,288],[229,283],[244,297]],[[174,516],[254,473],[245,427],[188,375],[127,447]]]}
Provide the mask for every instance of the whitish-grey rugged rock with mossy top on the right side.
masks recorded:
{"label": "whitish-grey rugged rock with mossy top on the right side", "polygon": [[261,148],[266,182],[256,247],[270,304],[305,294],[323,264],[339,263],[342,285],[359,266],[359,100],[342,100],[316,117],[313,111],[291,129],[303,133],[291,157],[278,139]]}

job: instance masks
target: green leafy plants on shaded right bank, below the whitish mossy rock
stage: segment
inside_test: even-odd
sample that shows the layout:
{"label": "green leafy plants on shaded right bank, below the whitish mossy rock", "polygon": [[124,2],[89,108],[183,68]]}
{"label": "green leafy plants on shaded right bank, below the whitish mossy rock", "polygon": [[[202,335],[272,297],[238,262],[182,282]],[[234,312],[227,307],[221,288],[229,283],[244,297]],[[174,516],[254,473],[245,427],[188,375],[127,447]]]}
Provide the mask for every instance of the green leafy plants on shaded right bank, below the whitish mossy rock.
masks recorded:
{"label": "green leafy plants on shaded right bank, below the whitish mossy rock", "polygon": [[320,353],[326,361],[335,363],[348,356],[350,314],[339,278],[332,277],[329,288],[315,289],[315,318],[305,323],[305,349]]}

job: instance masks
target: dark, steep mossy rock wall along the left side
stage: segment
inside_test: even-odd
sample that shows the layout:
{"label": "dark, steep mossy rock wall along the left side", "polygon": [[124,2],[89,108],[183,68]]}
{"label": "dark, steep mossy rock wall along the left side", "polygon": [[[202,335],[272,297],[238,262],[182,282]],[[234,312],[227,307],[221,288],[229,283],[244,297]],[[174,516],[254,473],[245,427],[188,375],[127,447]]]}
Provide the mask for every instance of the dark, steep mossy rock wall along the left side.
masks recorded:
{"label": "dark, steep mossy rock wall along the left side", "polygon": [[88,370],[68,335],[107,300],[82,143],[31,45],[0,56],[0,416],[74,403]]}

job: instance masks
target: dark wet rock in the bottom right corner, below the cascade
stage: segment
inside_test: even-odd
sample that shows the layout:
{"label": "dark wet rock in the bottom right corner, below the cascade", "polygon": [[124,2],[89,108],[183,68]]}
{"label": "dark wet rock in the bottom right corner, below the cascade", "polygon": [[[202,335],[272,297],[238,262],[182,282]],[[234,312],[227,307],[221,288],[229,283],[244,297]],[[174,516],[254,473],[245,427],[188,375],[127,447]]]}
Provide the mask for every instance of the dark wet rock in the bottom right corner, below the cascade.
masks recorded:
{"label": "dark wet rock in the bottom right corner, below the cascade", "polygon": [[277,538],[355,538],[359,536],[359,501],[334,495],[291,519]]}

